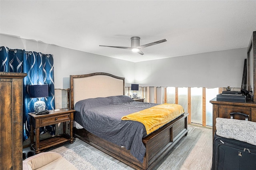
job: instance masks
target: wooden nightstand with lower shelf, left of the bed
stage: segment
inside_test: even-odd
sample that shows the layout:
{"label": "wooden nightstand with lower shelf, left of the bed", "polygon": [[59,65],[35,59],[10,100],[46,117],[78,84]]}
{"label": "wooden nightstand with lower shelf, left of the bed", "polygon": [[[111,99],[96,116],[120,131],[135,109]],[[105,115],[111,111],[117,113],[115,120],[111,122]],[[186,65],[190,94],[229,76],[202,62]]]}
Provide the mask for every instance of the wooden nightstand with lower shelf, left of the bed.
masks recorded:
{"label": "wooden nightstand with lower shelf, left of the bed", "polygon": [[[74,120],[75,110],[55,109],[55,110],[49,110],[49,112],[50,113],[48,115],[35,115],[33,113],[28,113],[28,115],[30,115],[30,128],[31,128],[30,146],[32,149],[36,151],[36,154],[40,153],[42,150],[46,148],[56,146],[66,141],[70,141],[70,143],[74,142],[73,120]],[[70,122],[69,123],[70,134],[66,134],[67,121]],[[46,138],[44,140],[39,140],[40,127],[54,125],[57,123],[63,123],[63,134]],[[35,142],[34,142],[34,130],[35,130],[35,136],[36,136]]]}

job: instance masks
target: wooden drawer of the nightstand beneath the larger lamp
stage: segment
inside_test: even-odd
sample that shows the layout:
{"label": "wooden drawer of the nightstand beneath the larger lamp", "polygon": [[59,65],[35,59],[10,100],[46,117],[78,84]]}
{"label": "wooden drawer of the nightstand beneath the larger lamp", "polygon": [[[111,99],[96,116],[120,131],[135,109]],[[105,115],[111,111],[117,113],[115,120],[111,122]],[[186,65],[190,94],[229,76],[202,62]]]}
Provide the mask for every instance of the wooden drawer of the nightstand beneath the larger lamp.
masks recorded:
{"label": "wooden drawer of the nightstand beneath the larger lamp", "polygon": [[53,124],[61,123],[61,122],[65,122],[65,121],[70,121],[70,114],[42,118],[42,119],[40,119],[40,127],[47,126],[47,125],[53,125]]}

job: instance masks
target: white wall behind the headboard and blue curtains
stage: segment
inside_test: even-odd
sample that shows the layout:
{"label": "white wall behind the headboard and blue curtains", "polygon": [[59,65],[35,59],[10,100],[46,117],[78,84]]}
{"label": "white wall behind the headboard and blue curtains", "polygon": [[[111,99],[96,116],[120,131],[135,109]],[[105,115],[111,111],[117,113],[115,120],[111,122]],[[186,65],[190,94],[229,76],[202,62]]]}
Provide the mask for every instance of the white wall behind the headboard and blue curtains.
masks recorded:
{"label": "white wall behind the headboard and blue curtains", "polygon": [[3,34],[0,34],[0,46],[53,54],[55,89],[69,88],[70,75],[95,72],[105,72],[119,77],[125,77],[127,86],[130,85],[130,83],[134,83],[134,63],[130,61]]}

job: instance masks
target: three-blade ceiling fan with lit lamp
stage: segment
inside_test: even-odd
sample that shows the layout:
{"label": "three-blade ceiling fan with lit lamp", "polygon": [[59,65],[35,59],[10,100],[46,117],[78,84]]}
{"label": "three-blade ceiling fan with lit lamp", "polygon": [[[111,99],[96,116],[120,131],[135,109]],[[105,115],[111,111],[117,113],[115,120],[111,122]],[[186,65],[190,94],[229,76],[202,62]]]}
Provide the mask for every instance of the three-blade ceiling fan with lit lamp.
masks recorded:
{"label": "three-blade ceiling fan with lit lamp", "polygon": [[167,40],[159,40],[152,43],[147,43],[145,45],[140,45],[140,37],[134,36],[131,37],[131,47],[116,47],[116,46],[107,46],[107,45],[100,45],[102,47],[114,47],[114,48],[122,48],[122,49],[131,49],[134,52],[138,52],[139,54],[143,55],[144,53],[140,50],[145,47],[149,47],[151,45],[156,45],[158,43],[166,42]]}

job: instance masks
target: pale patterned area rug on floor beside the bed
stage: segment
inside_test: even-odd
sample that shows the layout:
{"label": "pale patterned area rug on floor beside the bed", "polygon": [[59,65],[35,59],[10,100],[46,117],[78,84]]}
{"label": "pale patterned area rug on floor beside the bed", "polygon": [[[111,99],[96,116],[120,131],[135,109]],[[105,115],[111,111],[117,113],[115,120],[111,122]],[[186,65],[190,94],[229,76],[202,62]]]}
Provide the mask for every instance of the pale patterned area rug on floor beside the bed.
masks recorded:
{"label": "pale patterned area rug on floor beside the bed", "polygon": [[82,144],[60,154],[79,170],[127,170]]}

